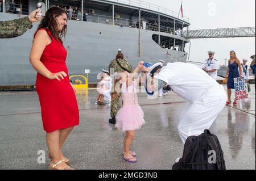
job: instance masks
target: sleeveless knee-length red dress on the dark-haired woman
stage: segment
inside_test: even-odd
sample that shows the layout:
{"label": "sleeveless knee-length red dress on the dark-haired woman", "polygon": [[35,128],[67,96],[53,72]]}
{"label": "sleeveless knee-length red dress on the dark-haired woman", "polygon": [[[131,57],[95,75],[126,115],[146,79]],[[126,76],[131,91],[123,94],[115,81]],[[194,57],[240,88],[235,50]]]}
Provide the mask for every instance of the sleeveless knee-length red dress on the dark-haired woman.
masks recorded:
{"label": "sleeveless knee-length red dress on the dark-haired woman", "polygon": [[[40,61],[51,73],[64,71],[68,75],[65,63],[67,50],[60,41],[54,39],[50,31],[44,28],[40,30],[47,31],[52,39],[52,43],[44,49]],[[40,100],[43,127],[46,132],[79,125],[79,108],[75,92],[69,82],[69,76],[58,81],[57,79],[48,79],[38,73],[36,91]]]}

